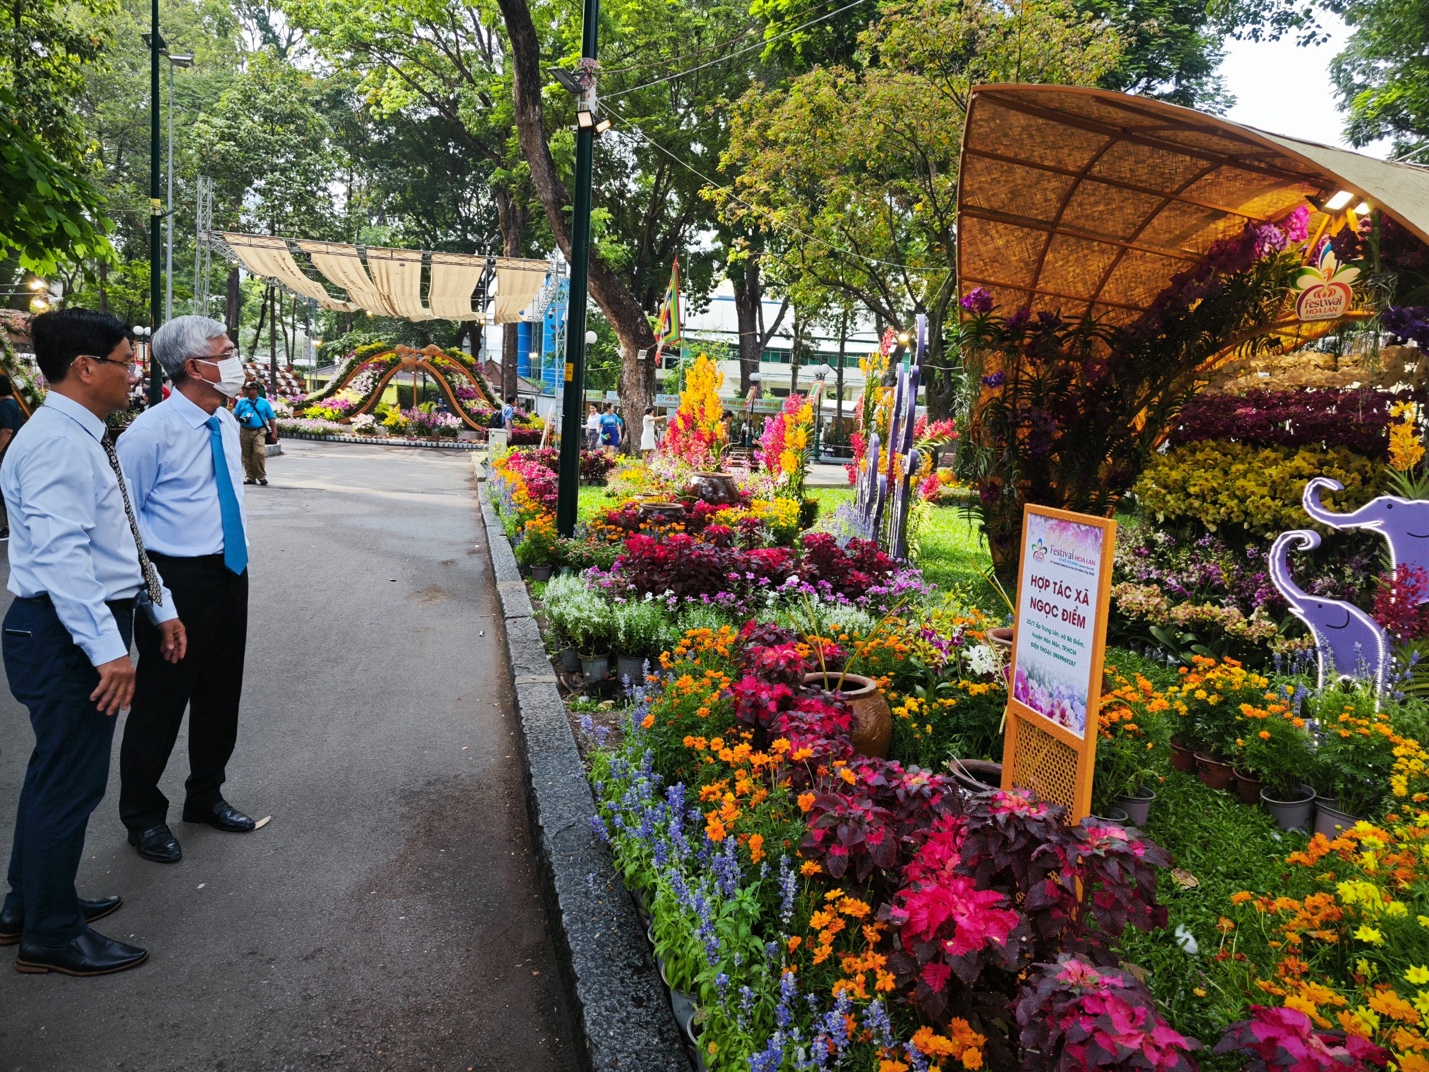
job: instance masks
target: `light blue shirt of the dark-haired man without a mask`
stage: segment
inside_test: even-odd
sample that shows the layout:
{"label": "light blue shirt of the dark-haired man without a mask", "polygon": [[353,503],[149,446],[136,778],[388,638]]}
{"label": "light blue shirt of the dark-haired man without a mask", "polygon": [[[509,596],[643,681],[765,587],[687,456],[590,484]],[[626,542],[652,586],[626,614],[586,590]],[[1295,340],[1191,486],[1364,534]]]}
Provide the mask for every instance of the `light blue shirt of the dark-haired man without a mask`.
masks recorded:
{"label": "light blue shirt of the dark-haired man without a mask", "polygon": [[[14,433],[0,465],[10,512],[7,587],[17,596],[49,595],[60,623],[96,666],[129,655],[104,603],[144,592],[103,437],[103,420],[51,390]],[[163,606],[140,602],[156,622],[179,616],[167,587]]]}

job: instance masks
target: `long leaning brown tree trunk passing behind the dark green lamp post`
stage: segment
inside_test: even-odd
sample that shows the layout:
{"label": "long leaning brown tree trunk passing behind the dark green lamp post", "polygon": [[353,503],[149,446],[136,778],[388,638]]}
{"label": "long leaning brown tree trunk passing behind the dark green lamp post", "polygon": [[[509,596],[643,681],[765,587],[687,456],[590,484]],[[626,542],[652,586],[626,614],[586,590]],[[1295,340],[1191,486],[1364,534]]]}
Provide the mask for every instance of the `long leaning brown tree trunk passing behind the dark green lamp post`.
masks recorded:
{"label": "long leaning brown tree trunk passing behind the dark green lamp post", "polygon": [[[532,183],[546,210],[546,220],[556,244],[569,259],[570,227],[566,214],[570,207],[570,193],[560,180],[556,160],[546,143],[540,100],[544,79],[540,70],[536,26],[532,23],[526,0],[497,0],[497,3],[512,44],[512,97],[516,104],[516,130],[520,136],[522,156],[530,167]],[[620,340],[620,406],[627,425],[639,423],[654,396],[654,332],[650,330],[650,319],[630,287],[594,252],[590,254],[590,296],[596,299],[596,304]],[[584,330],[584,324],[567,324],[566,337],[570,339],[574,332]],[[640,360],[642,352],[644,360]]]}

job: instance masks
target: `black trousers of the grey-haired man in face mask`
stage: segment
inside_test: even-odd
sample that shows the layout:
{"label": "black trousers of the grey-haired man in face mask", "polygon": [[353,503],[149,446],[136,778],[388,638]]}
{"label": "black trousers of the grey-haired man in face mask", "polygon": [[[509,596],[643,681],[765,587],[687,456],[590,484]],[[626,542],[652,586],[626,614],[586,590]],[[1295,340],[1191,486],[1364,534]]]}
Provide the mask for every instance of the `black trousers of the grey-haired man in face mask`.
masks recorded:
{"label": "black trousers of the grey-haired man in face mask", "polygon": [[169,799],[159,779],[189,709],[186,805],[207,809],[223,799],[229,758],[239,736],[243,652],[249,635],[249,573],[234,575],[221,555],[180,559],[149,553],[173,593],[189,636],[177,663],[159,650],[159,629],[146,616],[134,623],[139,670],[134,703],[119,752],[119,818],[141,832],[164,822]]}

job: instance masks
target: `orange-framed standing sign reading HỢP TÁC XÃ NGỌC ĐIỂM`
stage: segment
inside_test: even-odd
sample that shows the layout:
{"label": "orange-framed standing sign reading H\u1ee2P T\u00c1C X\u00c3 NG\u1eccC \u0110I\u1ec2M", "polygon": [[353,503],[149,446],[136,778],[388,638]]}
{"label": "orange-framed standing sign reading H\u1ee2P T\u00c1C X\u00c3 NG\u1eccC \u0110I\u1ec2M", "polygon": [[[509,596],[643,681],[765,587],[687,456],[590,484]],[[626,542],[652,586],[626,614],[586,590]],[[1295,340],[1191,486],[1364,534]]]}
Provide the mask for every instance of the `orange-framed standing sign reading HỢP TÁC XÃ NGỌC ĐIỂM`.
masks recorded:
{"label": "orange-framed standing sign reading H\u1ee2P T\u00c1C X\u00c3 NG\u1eccC \u0110I\u1ec2M", "polygon": [[1116,522],[1047,506],[1022,515],[1002,785],[1092,808]]}

